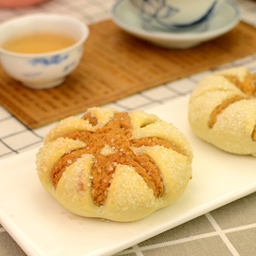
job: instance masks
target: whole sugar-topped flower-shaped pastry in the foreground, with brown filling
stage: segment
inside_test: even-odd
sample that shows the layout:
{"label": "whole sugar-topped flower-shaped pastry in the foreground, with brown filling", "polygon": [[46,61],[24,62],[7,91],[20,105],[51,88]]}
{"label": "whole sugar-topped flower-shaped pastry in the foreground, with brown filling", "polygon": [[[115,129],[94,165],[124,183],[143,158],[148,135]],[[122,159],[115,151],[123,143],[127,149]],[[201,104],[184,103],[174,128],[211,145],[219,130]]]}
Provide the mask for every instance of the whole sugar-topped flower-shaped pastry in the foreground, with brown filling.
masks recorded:
{"label": "whole sugar-topped flower-shaped pastry in the foreground, with brown filling", "polygon": [[173,124],[90,108],[53,127],[37,154],[46,191],[85,217],[128,222],[172,204],[192,177],[192,148]]}

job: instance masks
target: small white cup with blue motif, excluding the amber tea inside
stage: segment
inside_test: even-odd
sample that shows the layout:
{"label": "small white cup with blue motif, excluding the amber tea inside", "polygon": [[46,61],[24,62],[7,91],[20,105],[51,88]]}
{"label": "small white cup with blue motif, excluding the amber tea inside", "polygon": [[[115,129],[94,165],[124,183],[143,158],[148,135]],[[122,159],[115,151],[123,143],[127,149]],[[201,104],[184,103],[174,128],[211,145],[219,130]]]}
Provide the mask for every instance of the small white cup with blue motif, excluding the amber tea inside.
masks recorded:
{"label": "small white cup with blue motif, excluding the amber tea inside", "polygon": [[[10,38],[32,32],[63,33],[75,39],[72,46],[46,53],[15,53],[2,48]],[[64,82],[82,59],[88,27],[76,18],[60,14],[31,14],[0,25],[0,61],[9,76],[27,87],[46,89]]]}

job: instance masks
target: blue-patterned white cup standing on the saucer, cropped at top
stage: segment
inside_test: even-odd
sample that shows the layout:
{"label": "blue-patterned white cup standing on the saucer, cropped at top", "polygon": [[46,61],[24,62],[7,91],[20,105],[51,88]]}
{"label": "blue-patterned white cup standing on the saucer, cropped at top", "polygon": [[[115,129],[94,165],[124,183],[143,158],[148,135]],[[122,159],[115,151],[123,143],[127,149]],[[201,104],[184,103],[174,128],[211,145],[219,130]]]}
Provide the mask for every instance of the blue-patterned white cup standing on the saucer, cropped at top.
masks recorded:
{"label": "blue-patterned white cup standing on the saucer, cropped at top", "polygon": [[184,30],[204,25],[225,0],[127,0],[148,29]]}

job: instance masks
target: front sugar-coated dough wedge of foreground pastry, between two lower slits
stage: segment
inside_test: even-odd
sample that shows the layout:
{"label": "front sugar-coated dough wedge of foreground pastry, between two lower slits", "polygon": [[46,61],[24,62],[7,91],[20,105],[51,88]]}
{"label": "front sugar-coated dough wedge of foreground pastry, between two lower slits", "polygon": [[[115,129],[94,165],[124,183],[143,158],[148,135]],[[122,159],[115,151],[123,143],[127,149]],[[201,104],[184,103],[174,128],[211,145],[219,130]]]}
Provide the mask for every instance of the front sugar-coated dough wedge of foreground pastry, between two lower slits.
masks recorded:
{"label": "front sugar-coated dough wedge of foreground pastry, between two lower slits", "polygon": [[136,170],[127,165],[119,165],[104,204],[103,216],[110,220],[134,221],[153,211],[154,192]]}

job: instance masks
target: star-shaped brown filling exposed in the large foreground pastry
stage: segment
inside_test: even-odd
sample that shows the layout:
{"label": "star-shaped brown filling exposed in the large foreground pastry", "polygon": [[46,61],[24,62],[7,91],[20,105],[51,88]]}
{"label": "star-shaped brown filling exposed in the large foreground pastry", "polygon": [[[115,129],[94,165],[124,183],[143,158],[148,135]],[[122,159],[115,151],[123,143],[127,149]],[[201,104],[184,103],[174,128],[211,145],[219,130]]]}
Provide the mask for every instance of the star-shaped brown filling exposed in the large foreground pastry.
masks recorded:
{"label": "star-shaped brown filling exposed in the large foreground pastry", "polygon": [[[98,122],[88,113],[82,119],[88,119],[93,125]],[[155,197],[161,196],[164,192],[163,181],[155,162],[148,155],[136,155],[131,147],[159,145],[172,148],[180,154],[181,152],[172,143],[161,138],[132,139],[132,131],[128,113],[119,113],[97,132],[78,131],[65,135],[64,137],[82,140],[86,143],[86,147],[65,154],[56,162],[51,171],[53,186],[57,187],[66,167],[74,163],[82,154],[92,154],[94,163],[91,172],[91,193],[97,206],[104,204],[118,164],[134,167],[137,174],[141,175],[148,187],[153,190]],[[102,155],[101,150],[106,145],[113,150],[113,153]],[[84,189],[82,185],[80,189]]]}

